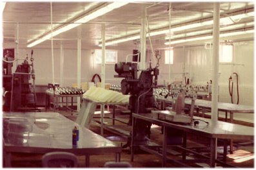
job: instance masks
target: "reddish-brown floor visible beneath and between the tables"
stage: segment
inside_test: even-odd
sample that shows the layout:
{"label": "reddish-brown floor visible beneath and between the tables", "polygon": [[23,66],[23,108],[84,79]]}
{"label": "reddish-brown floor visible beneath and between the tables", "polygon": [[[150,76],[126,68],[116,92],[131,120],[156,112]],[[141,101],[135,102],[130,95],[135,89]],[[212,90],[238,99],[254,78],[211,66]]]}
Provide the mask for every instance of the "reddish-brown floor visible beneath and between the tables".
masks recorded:
{"label": "reddish-brown floor visible beneath and between the tables", "polygon": [[[48,110],[50,111],[50,110]],[[63,110],[59,110],[61,114],[68,117],[68,119],[75,120],[76,115],[71,114],[71,112],[66,112]],[[120,112],[117,110],[118,117],[121,117],[124,121],[128,121],[128,115],[120,114]],[[111,124],[111,121],[108,119],[105,119],[106,122]],[[90,130],[92,130],[95,133],[100,133],[100,128],[97,126],[96,123],[92,123],[90,125]],[[161,127],[154,126],[154,128],[151,128],[151,139],[154,140],[156,143],[161,144],[162,142],[162,134],[161,134]],[[108,139],[112,139],[113,142],[115,142],[119,146],[123,146],[126,144],[126,139],[123,137],[120,137],[119,135],[116,135],[112,132],[108,132],[107,130],[104,130],[104,137]],[[202,147],[208,145],[206,140],[200,138],[200,137],[188,137],[188,148],[190,147]],[[245,141],[236,141],[236,142],[245,142]],[[220,148],[221,149],[221,148]],[[239,146],[238,148],[235,148],[233,154],[229,154],[227,158],[228,164],[231,164],[236,167],[254,167],[254,148],[253,144],[246,144],[245,146]],[[207,151],[206,151],[207,153]],[[34,154],[15,154],[12,156],[12,166],[13,167],[41,167],[41,157],[43,155],[34,155]],[[115,155],[106,153],[105,155],[92,155],[90,156],[90,167],[104,167],[105,162],[113,161]],[[175,153],[170,155],[173,159],[179,158]],[[251,158],[252,157],[252,158]],[[84,156],[78,156],[79,160],[79,167],[84,167],[85,157]],[[121,153],[121,161],[124,162],[130,162],[132,164],[132,167],[161,167],[161,158],[151,155],[149,153],[146,153],[144,151],[137,151],[134,157],[134,161],[130,161],[130,149],[125,148],[123,149]],[[190,164],[192,167],[208,167],[206,164]],[[179,167],[177,164],[170,164],[168,163],[166,167]]]}

